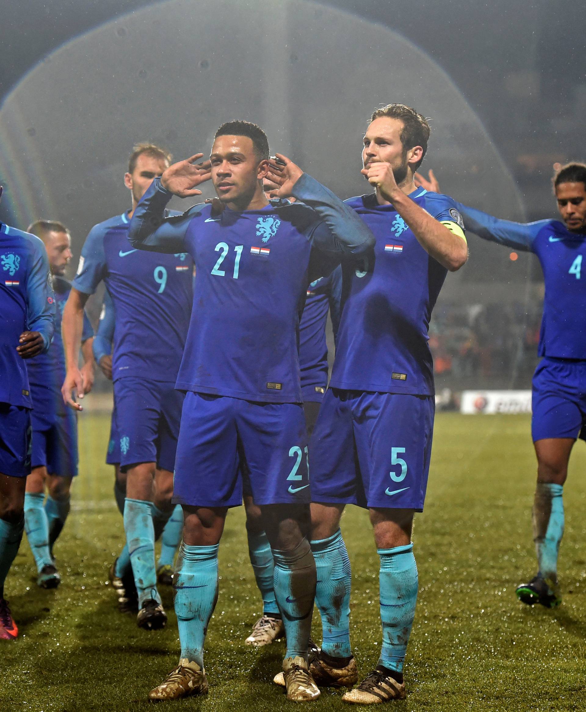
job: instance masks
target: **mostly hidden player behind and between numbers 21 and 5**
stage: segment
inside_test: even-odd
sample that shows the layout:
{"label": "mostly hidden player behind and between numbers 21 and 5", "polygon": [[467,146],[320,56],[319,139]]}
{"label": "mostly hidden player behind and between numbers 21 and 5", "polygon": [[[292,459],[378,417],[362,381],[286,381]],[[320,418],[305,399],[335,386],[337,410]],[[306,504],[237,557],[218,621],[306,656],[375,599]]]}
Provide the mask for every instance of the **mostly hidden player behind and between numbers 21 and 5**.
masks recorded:
{"label": "mostly hidden player behind and between numbers 21 and 5", "polygon": [[[277,187],[278,189],[278,187]],[[265,182],[265,192],[266,182]],[[326,344],[326,320],[331,317],[334,335],[338,330],[341,296],[341,269],[321,277],[307,288],[307,298],[299,323],[299,370],[307,436],[311,437],[317,414],[328,384],[328,347]],[[311,456],[310,456],[311,459]],[[257,587],[262,595],[262,616],[245,639],[247,645],[268,645],[284,634],[284,626],[275,600],[272,580],[275,563],[262,528],[260,507],[255,505],[252,494],[245,487],[246,533],[248,553]]]}

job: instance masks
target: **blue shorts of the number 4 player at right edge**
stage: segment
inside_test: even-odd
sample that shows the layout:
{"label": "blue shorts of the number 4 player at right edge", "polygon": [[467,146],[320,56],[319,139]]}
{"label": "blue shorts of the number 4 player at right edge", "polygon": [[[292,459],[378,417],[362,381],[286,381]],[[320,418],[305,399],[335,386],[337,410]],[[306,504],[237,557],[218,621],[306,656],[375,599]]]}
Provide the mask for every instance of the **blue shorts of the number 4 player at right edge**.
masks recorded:
{"label": "blue shorts of the number 4 player at right edge", "polygon": [[586,440],[586,361],[544,358],[533,375],[531,436]]}

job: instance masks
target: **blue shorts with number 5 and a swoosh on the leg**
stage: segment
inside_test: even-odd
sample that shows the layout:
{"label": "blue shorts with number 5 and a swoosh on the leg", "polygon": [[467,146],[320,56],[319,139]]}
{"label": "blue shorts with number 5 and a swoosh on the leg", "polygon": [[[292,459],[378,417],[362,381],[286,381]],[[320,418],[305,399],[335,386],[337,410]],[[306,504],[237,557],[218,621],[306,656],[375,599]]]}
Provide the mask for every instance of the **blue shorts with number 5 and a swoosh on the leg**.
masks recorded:
{"label": "blue shorts with number 5 and a swoosh on the leg", "polygon": [[309,446],[311,501],[423,511],[435,397],[329,389]]}

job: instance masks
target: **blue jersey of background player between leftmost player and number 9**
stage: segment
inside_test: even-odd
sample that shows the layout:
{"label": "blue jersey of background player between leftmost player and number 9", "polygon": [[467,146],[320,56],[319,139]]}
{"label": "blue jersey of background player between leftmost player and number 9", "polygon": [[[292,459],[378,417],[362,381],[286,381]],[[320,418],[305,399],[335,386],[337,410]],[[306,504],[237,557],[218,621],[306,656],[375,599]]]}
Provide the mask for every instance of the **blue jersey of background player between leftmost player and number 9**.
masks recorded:
{"label": "blue jersey of background player between leftmost player and number 9", "polygon": [[[53,277],[53,293],[55,295],[55,333],[53,341],[46,353],[39,354],[26,361],[28,382],[31,384],[31,395],[35,411],[63,412],[66,409],[61,386],[65,380],[65,351],[61,339],[61,319],[65,302],[71,290],[71,283],[63,277]],[[83,315],[82,342],[90,339],[94,330],[87,315]]]}

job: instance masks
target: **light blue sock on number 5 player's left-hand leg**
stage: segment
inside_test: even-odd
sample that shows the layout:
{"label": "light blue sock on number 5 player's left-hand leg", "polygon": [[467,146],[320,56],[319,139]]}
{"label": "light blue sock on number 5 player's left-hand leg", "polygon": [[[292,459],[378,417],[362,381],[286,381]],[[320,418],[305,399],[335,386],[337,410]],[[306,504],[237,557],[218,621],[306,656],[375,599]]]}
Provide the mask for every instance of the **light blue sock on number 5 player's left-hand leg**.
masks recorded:
{"label": "light blue sock on number 5 player's left-hand leg", "polygon": [[317,571],[315,600],[321,615],[324,653],[350,657],[350,559],[342,533],[311,542]]}

